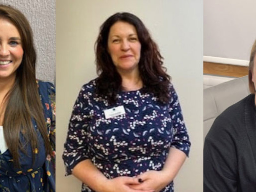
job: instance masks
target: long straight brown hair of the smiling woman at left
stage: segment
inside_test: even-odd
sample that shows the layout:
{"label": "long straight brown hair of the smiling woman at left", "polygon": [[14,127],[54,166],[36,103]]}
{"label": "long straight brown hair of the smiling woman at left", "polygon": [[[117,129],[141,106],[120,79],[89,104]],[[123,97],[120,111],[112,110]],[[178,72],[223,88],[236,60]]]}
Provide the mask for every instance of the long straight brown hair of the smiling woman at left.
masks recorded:
{"label": "long straight brown hair of the smiling woman at left", "polygon": [[[38,148],[38,137],[32,123],[35,120],[43,139],[46,153],[51,152],[50,141],[44,119],[43,106],[36,84],[36,51],[28,20],[17,9],[0,4],[0,18],[10,21],[19,31],[23,48],[23,59],[16,70],[16,78],[11,90],[5,95],[4,138],[12,154],[14,165],[20,167],[19,151],[27,154],[30,144],[32,150]],[[25,142],[20,140],[22,134]],[[36,151],[32,151],[33,162]]]}

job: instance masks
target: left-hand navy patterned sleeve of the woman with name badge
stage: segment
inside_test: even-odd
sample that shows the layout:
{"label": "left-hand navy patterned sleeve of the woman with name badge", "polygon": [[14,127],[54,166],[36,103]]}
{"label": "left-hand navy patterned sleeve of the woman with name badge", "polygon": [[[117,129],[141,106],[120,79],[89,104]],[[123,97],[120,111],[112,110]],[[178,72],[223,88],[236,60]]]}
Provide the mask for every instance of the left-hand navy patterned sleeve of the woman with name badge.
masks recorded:
{"label": "left-hand navy patterned sleeve of the woman with name badge", "polygon": [[67,140],[62,158],[66,167],[66,176],[71,174],[79,162],[90,158],[88,154],[87,127],[91,119],[90,92],[83,86],[73,107],[68,125]]}

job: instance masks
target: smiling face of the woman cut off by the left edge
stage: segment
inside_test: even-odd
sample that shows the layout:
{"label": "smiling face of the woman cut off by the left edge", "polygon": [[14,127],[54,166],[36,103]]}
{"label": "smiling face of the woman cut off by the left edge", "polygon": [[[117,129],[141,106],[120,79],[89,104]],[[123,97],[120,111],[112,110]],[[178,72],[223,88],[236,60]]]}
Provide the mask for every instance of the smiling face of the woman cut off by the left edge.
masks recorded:
{"label": "smiling face of the woman cut off by the left edge", "polygon": [[9,20],[0,18],[0,79],[15,77],[22,57],[18,29]]}

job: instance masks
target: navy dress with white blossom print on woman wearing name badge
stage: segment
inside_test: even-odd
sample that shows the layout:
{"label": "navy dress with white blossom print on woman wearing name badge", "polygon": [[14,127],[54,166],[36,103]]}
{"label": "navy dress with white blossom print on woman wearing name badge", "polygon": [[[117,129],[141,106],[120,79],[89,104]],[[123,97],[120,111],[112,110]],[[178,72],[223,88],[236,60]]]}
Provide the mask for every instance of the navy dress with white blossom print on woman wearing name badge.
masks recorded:
{"label": "navy dress with white blossom print on woman wearing name badge", "polygon": [[[90,159],[107,177],[137,176],[162,170],[170,147],[187,156],[190,142],[177,94],[161,104],[151,93],[119,92],[115,105],[95,95],[95,80],[85,84],[70,118],[63,160],[66,175],[79,162]],[[108,117],[106,109],[123,106],[125,113]],[[93,192],[83,184],[83,192]],[[171,182],[161,192],[172,192]]]}

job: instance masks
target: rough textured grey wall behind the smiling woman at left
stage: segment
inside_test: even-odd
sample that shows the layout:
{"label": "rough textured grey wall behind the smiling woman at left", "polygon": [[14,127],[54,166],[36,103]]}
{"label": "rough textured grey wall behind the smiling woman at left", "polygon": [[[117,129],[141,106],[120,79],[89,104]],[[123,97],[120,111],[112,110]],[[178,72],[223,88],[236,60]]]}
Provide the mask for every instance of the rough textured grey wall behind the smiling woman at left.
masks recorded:
{"label": "rough textured grey wall behind the smiling woman at left", "polygon": [[55,0],[0,0],[28,19],[37,53],[36,78],[55,82]]}

